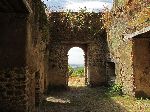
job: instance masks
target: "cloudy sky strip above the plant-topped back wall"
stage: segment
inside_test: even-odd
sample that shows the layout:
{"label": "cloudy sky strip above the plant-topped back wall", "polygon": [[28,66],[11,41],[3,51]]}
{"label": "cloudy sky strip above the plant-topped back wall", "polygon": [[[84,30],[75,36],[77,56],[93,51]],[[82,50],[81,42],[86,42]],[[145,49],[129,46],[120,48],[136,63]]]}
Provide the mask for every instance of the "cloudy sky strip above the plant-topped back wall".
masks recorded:
{"label": "cloudy sky strip above the plant-topped back wall", "polygon": [[66,11],[67,9],[77,12],[86,7],[88,11],[99,12],[104,6],[111,9],[112,0],[42,0],[50,11]]}

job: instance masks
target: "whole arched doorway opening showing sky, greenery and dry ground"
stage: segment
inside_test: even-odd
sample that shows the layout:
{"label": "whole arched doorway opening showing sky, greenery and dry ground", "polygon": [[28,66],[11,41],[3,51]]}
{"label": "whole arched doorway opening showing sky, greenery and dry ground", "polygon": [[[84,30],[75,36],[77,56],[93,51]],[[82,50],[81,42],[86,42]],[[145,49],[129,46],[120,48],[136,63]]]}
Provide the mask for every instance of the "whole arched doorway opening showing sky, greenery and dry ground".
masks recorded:
{"label": "whole arched doorway opening showing sky, greenery and dry ground", "polygon": [[79,47],[68,51],[68,86],[86,86],[85,53]]}

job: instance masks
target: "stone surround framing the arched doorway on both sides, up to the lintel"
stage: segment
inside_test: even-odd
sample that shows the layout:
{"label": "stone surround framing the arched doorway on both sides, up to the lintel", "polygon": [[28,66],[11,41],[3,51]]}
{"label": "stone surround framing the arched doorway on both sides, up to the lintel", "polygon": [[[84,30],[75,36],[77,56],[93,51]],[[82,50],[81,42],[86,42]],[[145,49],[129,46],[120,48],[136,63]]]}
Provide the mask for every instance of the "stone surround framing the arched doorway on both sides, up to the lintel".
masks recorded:
{"label": "stone surround framing the arched doorway on both sides, up to the lintel", "polygon": [[86,82],[90,86],[103,85],[106,82],[105,52],[103,45],[96,42],[90,43],[70,43],[70,42],[53,42],[50,45],[50,60],[48,83],[51,88],[66,88],[68,80],[68,51],[72,47],[80,47],[85,52]]}

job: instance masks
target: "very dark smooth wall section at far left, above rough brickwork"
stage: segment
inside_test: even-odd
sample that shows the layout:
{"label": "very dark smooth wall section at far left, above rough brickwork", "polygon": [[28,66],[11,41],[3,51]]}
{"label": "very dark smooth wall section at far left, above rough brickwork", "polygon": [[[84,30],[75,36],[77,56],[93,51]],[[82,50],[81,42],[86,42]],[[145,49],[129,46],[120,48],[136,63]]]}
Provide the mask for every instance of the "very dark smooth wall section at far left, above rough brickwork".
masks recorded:
{"label": "very dark smooth wall section at far left, above rough brickwork", "polygon": [[25,17],[24,14],[0,13],[0,68],[25,65]]}

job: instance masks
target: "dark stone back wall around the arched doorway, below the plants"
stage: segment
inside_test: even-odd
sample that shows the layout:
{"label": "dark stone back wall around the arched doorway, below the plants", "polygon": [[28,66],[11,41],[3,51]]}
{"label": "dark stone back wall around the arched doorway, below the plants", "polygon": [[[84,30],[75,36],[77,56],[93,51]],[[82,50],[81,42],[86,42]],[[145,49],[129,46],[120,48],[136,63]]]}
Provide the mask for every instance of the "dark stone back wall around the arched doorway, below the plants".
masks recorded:
{"label": "dark stone back wall around the arched doorway, below the plants", "polygon": [[[95,14],[95,20],[98,19]],[[68,51],[72,47],[80,47],[85,53],[85,67],[88,83],[91,86],[103,85],[106,82],[106,32],[100,30],[96,35],[87,28],[74,29],[62,22],[61,13],[52,13],[50,18],[51,39],[49,46],[49,87],[68,85]],[[95,24],[100,27],[102,23]]]}

